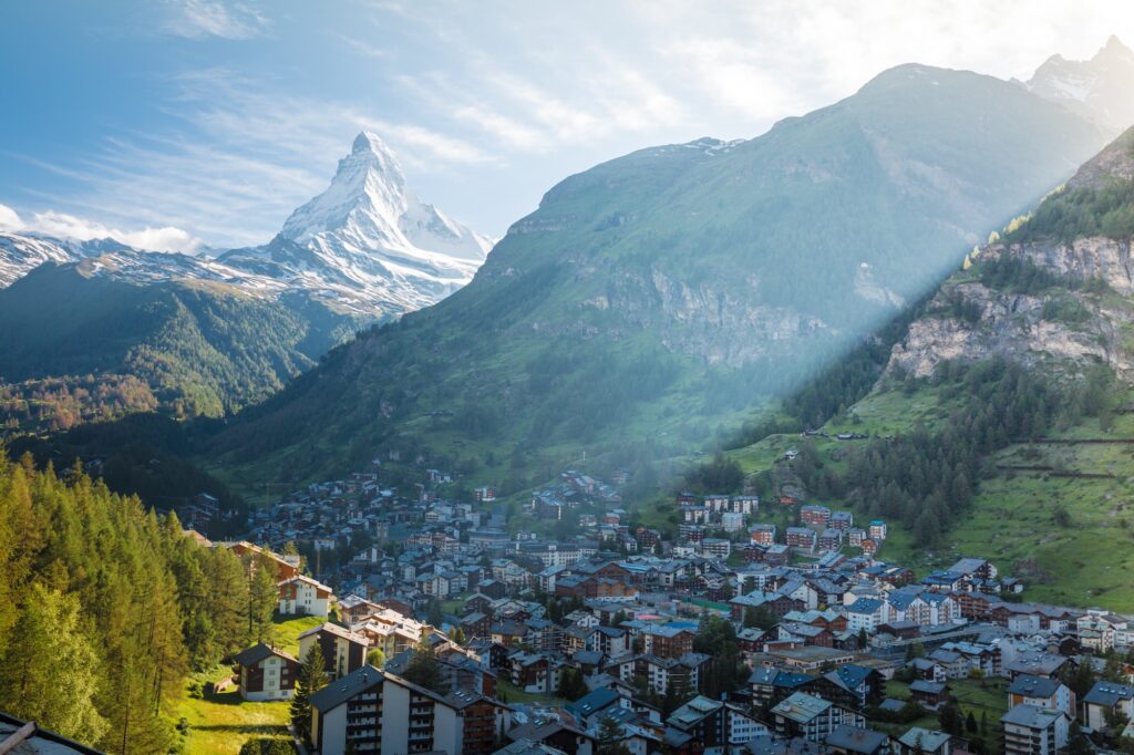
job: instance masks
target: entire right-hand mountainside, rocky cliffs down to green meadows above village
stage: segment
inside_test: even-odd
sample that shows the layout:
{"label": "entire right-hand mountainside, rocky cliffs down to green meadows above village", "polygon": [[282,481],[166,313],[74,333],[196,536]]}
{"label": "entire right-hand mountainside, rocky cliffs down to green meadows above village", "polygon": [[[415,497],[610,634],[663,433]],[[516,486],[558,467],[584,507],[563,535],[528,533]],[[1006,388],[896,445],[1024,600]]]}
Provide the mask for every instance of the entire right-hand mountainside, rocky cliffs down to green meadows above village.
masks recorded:
{"label": "entire right-hand mountainside, rocky cliffs down to green meadows above village", "polygon": [[1132,187],[1134,129],[946,280],[816,434],[790,401],[750,427],[746,484],[885,517],[881,557],[922,574],[984,557],[1026,599],[1134,610]]}

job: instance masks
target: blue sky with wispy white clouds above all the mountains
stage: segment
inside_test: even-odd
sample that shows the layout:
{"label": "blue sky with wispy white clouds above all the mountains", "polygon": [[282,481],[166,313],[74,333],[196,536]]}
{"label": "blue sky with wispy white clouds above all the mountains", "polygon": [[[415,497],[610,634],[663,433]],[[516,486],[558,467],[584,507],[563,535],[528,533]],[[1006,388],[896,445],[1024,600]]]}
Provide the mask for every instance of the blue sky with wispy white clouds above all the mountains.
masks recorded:
{"label": "blue sky with wispy white clouds above all the mountains", "polygon": [[[259,244],[363,128],[490,235],[635,149],[753,137],[919,61],[1134,44],[1110,0],[0,2],[0,224]],[[3,206],[6,205],[6,206]]]}

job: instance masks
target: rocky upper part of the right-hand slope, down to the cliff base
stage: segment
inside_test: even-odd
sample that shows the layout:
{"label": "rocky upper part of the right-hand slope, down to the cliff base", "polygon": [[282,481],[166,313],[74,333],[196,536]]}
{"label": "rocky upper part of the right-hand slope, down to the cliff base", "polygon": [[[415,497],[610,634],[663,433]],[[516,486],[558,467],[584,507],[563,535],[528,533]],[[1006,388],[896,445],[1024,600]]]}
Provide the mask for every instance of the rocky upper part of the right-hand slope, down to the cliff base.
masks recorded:
{"label": "rocky upper part of the right-hand slope, down to the cliff base", "polygon": [[1106,365],[1134,381],[1134,128],[953,275],[895,347],[891,372],[1007,356],[1046,372]]}

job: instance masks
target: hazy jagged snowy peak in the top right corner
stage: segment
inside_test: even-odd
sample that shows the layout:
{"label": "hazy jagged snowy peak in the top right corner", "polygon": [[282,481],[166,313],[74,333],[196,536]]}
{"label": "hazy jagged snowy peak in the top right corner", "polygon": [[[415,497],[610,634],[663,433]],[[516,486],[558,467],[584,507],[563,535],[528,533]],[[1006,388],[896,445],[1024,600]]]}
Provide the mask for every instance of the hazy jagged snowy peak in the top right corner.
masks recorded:
{"label": "hazy jagged snowy peak in the top right corner", "polygon": [[1115,134],[1134,125],[1134,51],[1117,36],[1090,60],[1048,58],[1024,86]]}

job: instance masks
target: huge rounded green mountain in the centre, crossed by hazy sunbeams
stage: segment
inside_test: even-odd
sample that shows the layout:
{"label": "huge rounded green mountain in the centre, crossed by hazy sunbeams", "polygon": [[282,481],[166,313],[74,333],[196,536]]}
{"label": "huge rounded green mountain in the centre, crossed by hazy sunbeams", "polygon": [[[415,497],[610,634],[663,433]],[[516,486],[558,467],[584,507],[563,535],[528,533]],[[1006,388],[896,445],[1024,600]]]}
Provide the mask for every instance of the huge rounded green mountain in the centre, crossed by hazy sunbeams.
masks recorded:
{"label": "huge rounded green mountain in the centre, crossed by hazy sunbeams", "polygon": [[1101,144],[1016,85],[903,66],[750,142],[598,166],[548,192],[469,286],[247,412],[214,463],[282,480],[416,449],[508,489],[583,447],[684,452]]}

